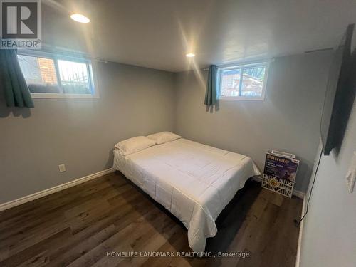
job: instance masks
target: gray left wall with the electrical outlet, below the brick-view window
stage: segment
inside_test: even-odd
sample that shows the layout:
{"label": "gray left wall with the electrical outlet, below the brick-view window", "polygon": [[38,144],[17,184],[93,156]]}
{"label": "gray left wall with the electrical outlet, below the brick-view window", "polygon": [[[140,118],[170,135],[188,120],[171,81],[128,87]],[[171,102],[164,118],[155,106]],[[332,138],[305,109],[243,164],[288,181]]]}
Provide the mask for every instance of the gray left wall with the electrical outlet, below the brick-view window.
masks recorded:
{"label": "gray left wall with the electrical outlet, below the brick-view window", "polygon": [[9,109],[0,91],[0,203],[112,167],[120,140],[173,130],[172,73],[118,63],[98,63],[96,73],[98,99]]}

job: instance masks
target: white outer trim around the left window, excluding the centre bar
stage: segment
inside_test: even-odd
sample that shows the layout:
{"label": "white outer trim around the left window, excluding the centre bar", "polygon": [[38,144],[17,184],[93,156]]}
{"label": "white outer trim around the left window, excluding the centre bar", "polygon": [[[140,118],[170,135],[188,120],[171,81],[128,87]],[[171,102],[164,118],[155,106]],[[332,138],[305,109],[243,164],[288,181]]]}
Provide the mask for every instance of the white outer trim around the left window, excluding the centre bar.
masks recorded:
{"label": "white outer trim around the left window, excluding the centre bar", "polygon": [[85,57],[75,57],[66,55],[66,53],[62,51],[53,52],[46,52],[46,51],[33,51],[33,50],[18,50],[19,55],[23,56],[36,56],[41,58],[51,58],[54,59],[63,59],[63,60],[70,60],[72,59],[74,62],[83,62],[89,63],[90,68],[90,77],[92,79],[92,87],[93,87],[93,94],[73,94],[73,93],[31,93],[32,98],[43,98],[43,99],[65,99],[65,98],[72,98],[72,99],[91,99],[91,98],[100,98],[99,90],[98,90],[98,83],[96,79],[96,71],[95,71],[95,61],[91,60],[90,58]]}

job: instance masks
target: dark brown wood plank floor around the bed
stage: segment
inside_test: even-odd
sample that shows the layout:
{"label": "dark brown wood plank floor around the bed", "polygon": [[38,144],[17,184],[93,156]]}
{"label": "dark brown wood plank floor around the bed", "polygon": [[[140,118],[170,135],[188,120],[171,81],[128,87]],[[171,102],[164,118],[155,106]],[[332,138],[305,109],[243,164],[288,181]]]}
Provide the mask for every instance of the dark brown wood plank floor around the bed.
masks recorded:
{"label": "dark brown wood plank floor around the bed", "polygon": [[[295,266],[302,200],[248,182],[216,220],[206,251],[191,251],[187,230],[120,173],[0,212],[0,266]],[[161,251],[174,257],[108,256]],[[218,257],[219,251],[249,256]]]}

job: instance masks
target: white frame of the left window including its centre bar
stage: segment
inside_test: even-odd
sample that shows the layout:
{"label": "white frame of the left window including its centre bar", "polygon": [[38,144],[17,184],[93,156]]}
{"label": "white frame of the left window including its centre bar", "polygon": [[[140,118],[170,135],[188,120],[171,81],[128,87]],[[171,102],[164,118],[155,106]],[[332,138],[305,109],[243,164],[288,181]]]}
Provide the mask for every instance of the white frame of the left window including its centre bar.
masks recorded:
{"label": "white frame of the left window including its centre bar", "polygon": [[[96,83],[96,76],[95,76],[95,66],[93,61],[90,58],[85,56],[71,56],[69,54],[63,53],[61,51],[34,51],[34,50],[25,50],[21,49],[17,51],[17,54],[20,56],[33,56],[37,58],[48,58],[53,60],[54,67],[56,69],[56,76],[57,76],[57,84],[58,89],[61,93],[31,93],[32,98],[81,98],[81,99],[89,99],[89,98],[99,98],[99,91],[98,86],[95,86]],[[58,60],[63,61],[73,61],[76,63],[85,63],[88,72],[88,80],[89,80],[89,87],[92,93],[63,93],[63,88],[61,86],[61,76],[59,74],[58,68]]]}

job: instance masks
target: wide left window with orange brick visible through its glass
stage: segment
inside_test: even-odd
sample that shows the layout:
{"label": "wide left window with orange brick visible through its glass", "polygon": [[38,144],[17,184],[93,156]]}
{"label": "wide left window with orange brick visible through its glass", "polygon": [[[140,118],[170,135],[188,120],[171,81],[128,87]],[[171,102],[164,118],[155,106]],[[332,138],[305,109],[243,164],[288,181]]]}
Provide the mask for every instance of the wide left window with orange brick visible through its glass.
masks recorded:
{"label": "wide left window with orange brick visible through its glass", "polygon": [[42,51],[19,51],[19,64],[33,98],[95,98],[91,61]]}

